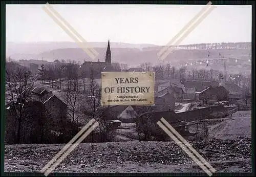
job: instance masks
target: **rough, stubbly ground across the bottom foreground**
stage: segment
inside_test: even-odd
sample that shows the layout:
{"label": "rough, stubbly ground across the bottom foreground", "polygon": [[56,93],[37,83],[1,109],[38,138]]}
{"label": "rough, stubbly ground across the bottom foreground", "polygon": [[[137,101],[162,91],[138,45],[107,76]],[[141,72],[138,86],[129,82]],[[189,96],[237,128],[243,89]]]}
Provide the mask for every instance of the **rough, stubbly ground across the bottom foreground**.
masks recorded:
{"label": "rough, stubbly ground across the bottom foreground", "polygon": [[[200,141],[193,147],[218,172],[250,172],[251,141]],[[6,145],[5,171],[39,172],[63,147],[61,144]],[[84,143],[56,172],[202,172],[174,142]]]}

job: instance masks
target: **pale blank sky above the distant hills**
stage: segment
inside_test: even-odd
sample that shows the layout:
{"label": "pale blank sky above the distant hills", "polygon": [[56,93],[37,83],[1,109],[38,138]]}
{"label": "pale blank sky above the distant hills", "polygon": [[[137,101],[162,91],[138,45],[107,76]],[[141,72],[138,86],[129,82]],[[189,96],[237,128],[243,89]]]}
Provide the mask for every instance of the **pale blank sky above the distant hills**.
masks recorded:
{"label": "pale blank sky above the distant hills", "polygon": [[[73,41],[44,11],[44,5],[7,5],[6,40]],[[166,45],[203,6],[53,5],[84,39],[91,42]],[[180,44],[250,42],[251,6],[216,8]]]}

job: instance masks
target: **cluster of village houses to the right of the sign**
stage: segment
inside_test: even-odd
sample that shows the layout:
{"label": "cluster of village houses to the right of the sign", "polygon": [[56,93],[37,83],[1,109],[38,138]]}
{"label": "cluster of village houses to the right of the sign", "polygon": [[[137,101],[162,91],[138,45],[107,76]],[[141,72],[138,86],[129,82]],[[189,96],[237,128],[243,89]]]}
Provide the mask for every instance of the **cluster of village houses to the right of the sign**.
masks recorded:
{"label": "cluster of village houses to the right of the sign", "polygon": [[157,86],[157,95],[167,92],[176,102],[208,99],[236,103],[243,99],[243,89],[232,82],[169,80]]}

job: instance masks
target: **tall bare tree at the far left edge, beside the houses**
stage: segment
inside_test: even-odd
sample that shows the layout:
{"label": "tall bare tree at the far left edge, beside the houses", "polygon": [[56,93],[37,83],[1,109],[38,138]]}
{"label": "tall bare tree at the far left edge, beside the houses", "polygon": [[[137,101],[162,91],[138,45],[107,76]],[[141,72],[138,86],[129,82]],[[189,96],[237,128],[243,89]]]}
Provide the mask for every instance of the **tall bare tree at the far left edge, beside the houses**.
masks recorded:
{"label": "tall bare tree at the far left edge, beside the houses", "polygon": [[24,116],[24,104],[31,95],[34,80],[29,70],[16,68],[6,70],[6,95],[9,98],[15,118],[18,122],[16,143],[20,143],[20,131]]}

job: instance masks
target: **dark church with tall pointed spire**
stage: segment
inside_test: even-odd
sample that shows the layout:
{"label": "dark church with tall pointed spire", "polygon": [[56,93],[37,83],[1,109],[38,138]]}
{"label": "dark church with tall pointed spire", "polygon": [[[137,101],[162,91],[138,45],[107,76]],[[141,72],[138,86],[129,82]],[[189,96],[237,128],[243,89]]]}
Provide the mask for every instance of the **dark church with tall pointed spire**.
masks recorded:
{"label": "dark church with tall pointed spire", "polygon": [[106,49],[105,62],[101,61],[84,61],[81,65],[82,77],[89,78],[90,74],[93,73],[94,77],[100,78],[101,72],[112,72],[117,71],[113,63],[111,63],[111,50],[110,50],[110,40],[108,42],[108,48]]}

